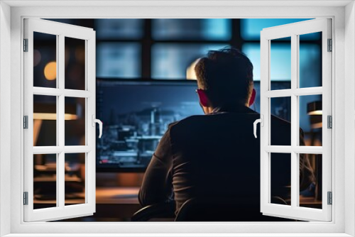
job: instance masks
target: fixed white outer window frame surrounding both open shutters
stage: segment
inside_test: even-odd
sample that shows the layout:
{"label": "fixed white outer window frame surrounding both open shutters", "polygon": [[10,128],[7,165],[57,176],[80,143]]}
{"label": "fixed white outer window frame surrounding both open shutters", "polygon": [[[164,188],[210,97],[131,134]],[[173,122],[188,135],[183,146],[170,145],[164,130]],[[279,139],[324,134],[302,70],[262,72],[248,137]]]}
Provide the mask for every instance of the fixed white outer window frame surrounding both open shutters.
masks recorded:
{"label": "fixed white outer window frame surrounding both open shutters", "polygon": [[[82,6],[92,4],[94,6]],[[355,8],[353,1],[2,1],[0,3],[0,227],[1,235],[27,236],[26,233],[42,233],[43,236],[103,236],[103,233],[151,233],[151,236],[354,236],[355,235],[355,185],[354,185],[354,48]],[[11,8],[9,5],[11,5]],[[49,4],[51,6],[43,6]],[[71,6],[68,6],[68,5]],[[141,4],[141,5],[138,5]],[[278,6],[282,4],[282,6]],[[305,5],[307,4],[307,5]],[[16,6],[17,5],[17,6]],[[61,6],[59,6],[61,5]],[[76,5],[76,7],[72,7]],[[111,6],[116,5],[116,6]],[[208,5],[208,6],[205,6]],[[55,6],[55,7],[54,7]],[[81,7],[80,7],[81,6]],[[175,6],[175,7],[172,7]],[[11,15],[10,13],[11,12]],[[344,18],[345,16],[345,18]],[[333,84],[333,163],[332,190],[334,192],[332,222],[293,223],[24,223],[22,190],[23,184],[23,67],[21,39],[23,18],[324,18],[333,19],[334,53],[332,55]],[[345,21],[346,20],[346,21]],[[11,29],[10,22],[11,21]],[[11,43],[10,43],[11,39]],[[9,48],[11,47],[11,50]],[[346,50],[344,50],[346,47]],[[3,53],[5,52],[5,53]],[[11,61],[9,57],[11,55]],[[4,77],[7,77],[4,79]],[[11,80],[9,79],[11,78]],[[344,84],[346,83],[346,87]],[[9,103],[9,97],[11,103]],[[10,116],[9,116],[10,114]],[[346,115],[346,116],[345,116]],[[11,127],[9,122],[11,121]],[[345,128],[346,123],[346,129]],[[7,127],[6,127],[7,126]],[[10,133],[11,131],[11,133]],[[6,141],[9,139],[10,142]],[[346,138],[346,139],[345,139]],[[9,145],[9,148],[6,148]],[[11,160],[9,159],[9,155]],[[11,169],[9,169],[11,167]],[[346,189],[345,189],[346,187]],[[7,202],[7,203],[6,203]],[[9,205],[11,203],[11,205]],[[346,208],[345,208],[346,206]],[[9,218],[10,216],[10,218]],[[98,230],[101,234],[94,235]],[[17,234],[18,233],[18,234]],[[20,234],[21,233],[21,234]],[[70,234],[72,233],[72,234]],[[121,233],[121,234],[119,234]],[[190,233],[190,235],[189,235]],[[211,234],[212,233],[212,234]],[[244,233],[244,234],[243,234]],[[327,234],[328,233],[328,234]],[[128,234],[126,234],[128,235]],[[28,235],[30,236],[30,235]],[[39,236],[36,234],[35,236]],[[114,236],[114,235],[112,235]],[[172,234],[173,236],[173,234]],[[176,236],[176,234],[175,234]]]}

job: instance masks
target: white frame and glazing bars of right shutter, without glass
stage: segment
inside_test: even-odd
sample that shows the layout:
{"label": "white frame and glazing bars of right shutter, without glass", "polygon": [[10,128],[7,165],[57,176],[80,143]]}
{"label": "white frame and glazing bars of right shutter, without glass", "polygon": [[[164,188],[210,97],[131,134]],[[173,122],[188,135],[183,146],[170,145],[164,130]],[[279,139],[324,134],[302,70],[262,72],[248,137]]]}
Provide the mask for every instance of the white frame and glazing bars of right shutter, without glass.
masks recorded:
{"label": "white frame and glazing bars of right shutter, without glass", "polygon": [[[305,34],[320,33],[322,52],[322,86],[300,87],[300,37]],[[271,89],[271,40],[291,38],[291,86],[290,89]],[[274,42],[274,41],[273,41]],[[334,45],[334,43],[333,43]],[[332,32],[331,19],[321,18],[299,23],[291,23],[261,31],[261,212],[268,216],[288,219],[331,221],[332,219],[332,128],[328,121],[332,119]],[[312,70],[312,69],[310,69]],[[312,78],[309,78],[312,79]],[[300,97],[319,95],[322,98],[321,116],[322,146],[300,144]],[[271,99],[289,97],[291,101],[291,144],[271,145]],[[318,111],[319,112],[319,111]],[[290,157],[290,200],[288,204],[273,202],[271,194],[272,155],[287,153]],[[320,174],[322,198],[318,208],[302,204],[300,197],[300,155],[321,155]],[[318,194],[320,197],[320,194]],[[333,194],[334,196],[334,194]]]}

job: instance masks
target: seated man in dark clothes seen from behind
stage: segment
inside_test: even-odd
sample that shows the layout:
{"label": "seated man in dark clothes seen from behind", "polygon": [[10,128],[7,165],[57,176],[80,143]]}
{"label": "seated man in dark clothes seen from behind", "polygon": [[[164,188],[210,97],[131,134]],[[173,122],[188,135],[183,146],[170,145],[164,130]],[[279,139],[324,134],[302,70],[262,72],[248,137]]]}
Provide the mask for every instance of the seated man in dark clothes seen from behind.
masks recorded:
{"label": "seated man in dark clothes seen from behind", "polygon": [[[188,199],[213,200],[221,209],[212,211],[207,205],[200,221],[211,214],[209,221],[233,221],[234,214],[246,221],[263,221],[260,136],[253,136],[253,122],[260,114],[249,109],[256,98],[253,65],[239,50],[224,48],[202,57],[195,73],[204,115],[170,124],[147,167],[139,202],[142,206],[175,202],[177,214]],[[288,121],[272,116],[271,127],[272,144],[290,145]],[[304,145],[302,131],[300,143]],[[273,153],[271,159],[277,160],[272,162],[271,195],[288,199],[290,155]],[[314,181],[309,160],[300,156],[300,190]],[[228,210],[228,202],[240,202],[245,208]]]}

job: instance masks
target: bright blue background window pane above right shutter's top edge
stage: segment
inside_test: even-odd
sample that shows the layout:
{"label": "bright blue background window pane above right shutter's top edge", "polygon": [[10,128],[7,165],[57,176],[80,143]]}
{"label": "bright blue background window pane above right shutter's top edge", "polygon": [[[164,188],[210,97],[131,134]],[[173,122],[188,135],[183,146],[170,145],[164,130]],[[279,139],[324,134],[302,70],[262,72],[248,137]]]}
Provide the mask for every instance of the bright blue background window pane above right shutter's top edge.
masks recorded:
{"label": "bright blue background window pane above right shutter's top edge", "polygon": [[[307,20],[310,19],[241,19],[241,37],[244,38],[244,40],[260,40],[260,31],[263,31],[263,28],[281,26],[285,24]],[[314,38],[310,37],[309,39],[313,40]]]}

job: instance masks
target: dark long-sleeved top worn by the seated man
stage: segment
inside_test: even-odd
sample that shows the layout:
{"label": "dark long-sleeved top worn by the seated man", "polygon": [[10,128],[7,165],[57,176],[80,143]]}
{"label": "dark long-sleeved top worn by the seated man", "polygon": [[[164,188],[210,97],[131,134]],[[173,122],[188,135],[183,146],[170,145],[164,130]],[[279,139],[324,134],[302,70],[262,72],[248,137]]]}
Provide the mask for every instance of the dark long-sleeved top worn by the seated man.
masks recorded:
{"label": "dark long-sleeved top worn by the seated man", "polygon": [[[142,206],[175,200],[176,211],[191,198],[243,199],[260,205],[260,118],[242,106],[217,109],[170,124],[148,165],[138,195]],[[303,143],[302,131],[300,142]],[[271,119],[271,144],[290,145],[290,123]],[[287,199],[290,189],[290,154],[271,155],[271,195]],[[314,175],[307,158],[300,158],[300,189]],[[249,203],[248,203],[249,202]]]}

